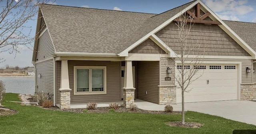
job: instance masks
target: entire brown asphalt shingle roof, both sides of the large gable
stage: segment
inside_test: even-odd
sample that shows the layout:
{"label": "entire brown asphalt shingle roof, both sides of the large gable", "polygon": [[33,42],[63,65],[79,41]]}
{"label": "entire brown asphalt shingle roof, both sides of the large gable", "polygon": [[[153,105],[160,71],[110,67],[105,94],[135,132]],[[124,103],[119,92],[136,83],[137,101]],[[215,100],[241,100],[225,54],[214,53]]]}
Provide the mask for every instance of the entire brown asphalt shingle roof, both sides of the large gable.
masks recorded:
{"label": "entire brown asphalt shingle roof, both sides of the large gable", "polygon": [[[119,54],[194,1],[161,14],[40,4],[56,52]],[[256,50],[256,23],[224,21]]]}

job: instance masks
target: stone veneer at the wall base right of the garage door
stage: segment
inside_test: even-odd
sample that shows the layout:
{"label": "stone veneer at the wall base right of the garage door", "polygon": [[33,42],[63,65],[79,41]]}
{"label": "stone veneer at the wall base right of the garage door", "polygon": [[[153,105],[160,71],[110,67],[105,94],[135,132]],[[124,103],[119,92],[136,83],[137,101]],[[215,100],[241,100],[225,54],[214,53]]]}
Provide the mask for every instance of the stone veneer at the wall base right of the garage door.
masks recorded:
{"label": "stone veneer at the wall base right of the garage door", "polygon": [[241,84],[241,100],[256,99],[256,84]]}

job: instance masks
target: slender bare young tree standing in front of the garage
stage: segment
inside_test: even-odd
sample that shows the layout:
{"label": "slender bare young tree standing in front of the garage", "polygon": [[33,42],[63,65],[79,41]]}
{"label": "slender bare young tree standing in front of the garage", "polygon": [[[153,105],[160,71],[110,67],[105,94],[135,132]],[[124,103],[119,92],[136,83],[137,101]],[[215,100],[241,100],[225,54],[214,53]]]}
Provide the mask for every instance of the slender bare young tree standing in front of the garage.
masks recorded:
{"label": "slender bare young tree standing in front of the garage", "polygon": [[191,36],[190,30],[194,25],[191,21],[193,18],[194,16],[186,13],[176,18],[176,38],[178,42],[174,46],[170,46],[170,48],[175,50],[177,58],[166,58],[165,61],[167,68],[171,68],[170,62],[178,64],[175,65],[175,71],[172,71],[171,74],[174,76],[177,90],[180,89],[182,91],[182,124],[185,124],[184,92],[190,92],[192,88],[188,87],[192,82],[200,78],[203,73],[201,64],[204,50],[200,50],[202,49],[200,44],[187,42],[189,36]]}

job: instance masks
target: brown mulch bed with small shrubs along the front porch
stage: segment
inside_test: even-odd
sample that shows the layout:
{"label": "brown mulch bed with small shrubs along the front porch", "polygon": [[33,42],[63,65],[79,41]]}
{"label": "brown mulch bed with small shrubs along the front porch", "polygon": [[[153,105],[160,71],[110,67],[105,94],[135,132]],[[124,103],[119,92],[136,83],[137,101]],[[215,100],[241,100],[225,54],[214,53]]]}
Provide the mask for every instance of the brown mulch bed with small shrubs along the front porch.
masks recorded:
{"label": "brown mulch bed with small shrubs along the front porch", "polygon": [[[86,108],[73,108],[73,109],[60,109],[58,107],[51,107],[46,108],[51,110],[59,110],[59,111],[66,111],[66,112],[76,112],[76,113],[84,113],[84,109]],[[103,112],[109,112],[110,107],[101,107],[97,108],[95,110],[88,110],[86,113],[103,113]],[[170,112],[164,112],[164,111],[149,111],[149,110],[142,110],[137,108],[135,111],[131,111],[129,108],[125,108],[124,106],[119,106],[115,112],[133,112],[133,113],[147,113],[147,114],[181,114],[179,111],[174,111],[172,113]]]}

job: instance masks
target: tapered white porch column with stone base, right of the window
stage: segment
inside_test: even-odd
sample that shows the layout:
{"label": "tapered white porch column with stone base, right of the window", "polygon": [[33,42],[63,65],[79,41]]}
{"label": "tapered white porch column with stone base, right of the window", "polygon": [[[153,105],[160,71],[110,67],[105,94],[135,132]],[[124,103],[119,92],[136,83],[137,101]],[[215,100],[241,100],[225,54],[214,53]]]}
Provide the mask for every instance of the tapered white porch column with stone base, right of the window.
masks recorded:
{"label": "tapered white porch column with stone base, right of the window", "polygon": [[132,78],[132,61],[125,61],[125,73],[124,73],[124,103],[126,108],[130,108],[130,105],[134,104],[134,90],[133,78]]}

